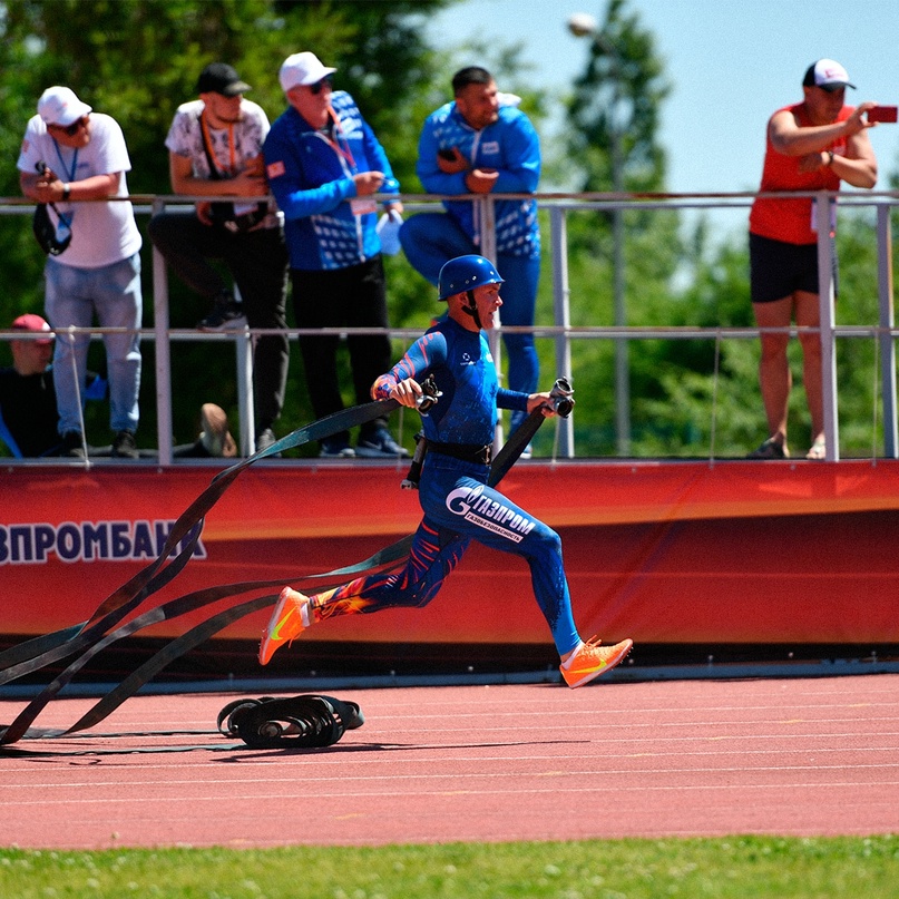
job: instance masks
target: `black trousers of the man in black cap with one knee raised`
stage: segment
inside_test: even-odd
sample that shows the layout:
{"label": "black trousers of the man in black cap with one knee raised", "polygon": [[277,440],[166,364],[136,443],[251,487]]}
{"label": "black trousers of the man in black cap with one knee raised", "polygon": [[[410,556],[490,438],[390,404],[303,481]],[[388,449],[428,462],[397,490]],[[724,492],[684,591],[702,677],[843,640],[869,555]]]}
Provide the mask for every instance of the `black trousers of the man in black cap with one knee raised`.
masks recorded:
{"label": "black trousers of the man in black cap with one knee raised", "polygon": [[287,343],[284,304],[287,293],[287,250],[281,228],[233,234],[204,225],[193,212],[160,213],[148,233],[176,274],[207,300],[228,287],[209,262],[225,264],[241,292],[251,328],[283,331],[256,339],[253,350],[253,391],[256,431],[271,428],[284,405]]}

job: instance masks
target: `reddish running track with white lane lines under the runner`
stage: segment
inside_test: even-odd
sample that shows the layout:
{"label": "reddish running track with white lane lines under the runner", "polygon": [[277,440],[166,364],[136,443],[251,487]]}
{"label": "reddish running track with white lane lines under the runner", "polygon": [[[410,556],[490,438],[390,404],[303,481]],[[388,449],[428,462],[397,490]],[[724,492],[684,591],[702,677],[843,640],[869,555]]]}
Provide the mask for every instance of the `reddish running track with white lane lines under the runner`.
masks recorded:
{"label": "reddish running track with white lane lines under the runner", "polygon": [[[614,677],[614,675],[613,675]],[[899,831],[899,675],[332,691],[325,750],[215,730],[234,695],[138,696],[0,756],[0,844],[381,844]],[[57,701],[66,727],[92,704]],[[20,701],[0,702],[9,723]]]}

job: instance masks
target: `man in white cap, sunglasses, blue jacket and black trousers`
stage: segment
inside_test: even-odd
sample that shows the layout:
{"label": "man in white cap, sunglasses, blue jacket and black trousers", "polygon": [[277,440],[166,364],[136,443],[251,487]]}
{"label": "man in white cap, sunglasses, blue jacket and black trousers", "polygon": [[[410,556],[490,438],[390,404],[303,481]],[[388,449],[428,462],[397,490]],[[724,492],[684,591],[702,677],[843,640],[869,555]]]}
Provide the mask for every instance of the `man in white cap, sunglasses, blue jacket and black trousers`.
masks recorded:
{"label": "man in white cap, sunglasses, blue jacket and black trousers", "polygon": [[[387,154],[355,105],[331,87],[334,68],[311,52],[284,60],[279,78],[290,106],[263,145],[272,193],[284,213],[293,305],[299,329],[387,328],[387,291],[375,231],[378,193],[397,194]],[[384,204],[402,212],[399,201]],[[343,408],[338,379],[338,335],[300,338],[312,407],[317,418]],[[346,340],[358,403],[390,368],[387,334]],[[349,432],[322,441],[325,457],[409,453],[387,419],[362,427],[355,450]]]}

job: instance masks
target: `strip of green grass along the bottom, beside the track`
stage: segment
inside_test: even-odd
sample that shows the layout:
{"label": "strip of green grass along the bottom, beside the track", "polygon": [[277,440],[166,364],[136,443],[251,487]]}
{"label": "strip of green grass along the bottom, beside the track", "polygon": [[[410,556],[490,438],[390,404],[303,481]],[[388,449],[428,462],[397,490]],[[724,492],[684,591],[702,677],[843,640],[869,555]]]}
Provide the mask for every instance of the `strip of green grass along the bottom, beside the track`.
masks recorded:
{"label": "strip of green grass along the bottom, beside the track", "polygon": [[189,899],[899,897],[899,837],[379,848],[0,849],[0,896]]}

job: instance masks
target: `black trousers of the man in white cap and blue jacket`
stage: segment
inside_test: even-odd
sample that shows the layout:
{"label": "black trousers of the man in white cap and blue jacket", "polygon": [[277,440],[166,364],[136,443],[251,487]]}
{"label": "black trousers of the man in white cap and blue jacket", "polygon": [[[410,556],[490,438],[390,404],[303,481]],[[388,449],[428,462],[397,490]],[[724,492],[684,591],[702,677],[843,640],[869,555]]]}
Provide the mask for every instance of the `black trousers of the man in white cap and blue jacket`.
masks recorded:
{"label": "black trousers of the man in white cap and blue jacket", "polygon": [[[348,268],[303,271],[291,268],[296,326],[387,328],[387,289],[381,256]],[[300,336],[303,369],[315,418],[343,409],[338,378],[336,335]],[[371,402],[371,385],[391,367],[387,334],[350,334],[346,338],[353,392],[358,404]],[[387,424],[387,417],[362,427],[363,434]],[[335,434],[349,440],[349,433]]]}

